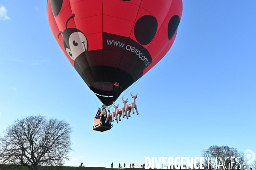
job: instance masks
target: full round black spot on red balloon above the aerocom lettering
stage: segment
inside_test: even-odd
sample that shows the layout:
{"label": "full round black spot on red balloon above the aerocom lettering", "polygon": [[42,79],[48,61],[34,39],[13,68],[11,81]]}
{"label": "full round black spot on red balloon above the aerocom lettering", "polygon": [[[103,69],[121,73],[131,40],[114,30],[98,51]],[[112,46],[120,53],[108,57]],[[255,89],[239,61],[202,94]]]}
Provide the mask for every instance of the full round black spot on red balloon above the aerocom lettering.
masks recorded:
{"label": "full round black spot on red balloon above the aerocom lettering", "polygon": [[136,40],[142,44],[147,45],[151,42],[157,33],[157,19],[151,15],[144,15],[134,26],[134,35]]}

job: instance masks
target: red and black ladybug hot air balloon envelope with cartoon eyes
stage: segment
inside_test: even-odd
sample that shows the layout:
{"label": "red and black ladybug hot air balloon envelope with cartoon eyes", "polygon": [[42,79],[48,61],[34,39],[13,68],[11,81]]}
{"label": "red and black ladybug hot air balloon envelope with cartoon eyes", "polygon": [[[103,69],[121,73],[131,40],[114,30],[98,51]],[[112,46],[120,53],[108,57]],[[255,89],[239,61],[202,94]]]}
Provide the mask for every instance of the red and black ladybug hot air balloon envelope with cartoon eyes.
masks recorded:
{"label": "red and black ladybug hot air balloon envelope with cartoon eyes", "polygon": [[48,0],[52,33],[67,59],[111,105],[171,48],[182,0]]}

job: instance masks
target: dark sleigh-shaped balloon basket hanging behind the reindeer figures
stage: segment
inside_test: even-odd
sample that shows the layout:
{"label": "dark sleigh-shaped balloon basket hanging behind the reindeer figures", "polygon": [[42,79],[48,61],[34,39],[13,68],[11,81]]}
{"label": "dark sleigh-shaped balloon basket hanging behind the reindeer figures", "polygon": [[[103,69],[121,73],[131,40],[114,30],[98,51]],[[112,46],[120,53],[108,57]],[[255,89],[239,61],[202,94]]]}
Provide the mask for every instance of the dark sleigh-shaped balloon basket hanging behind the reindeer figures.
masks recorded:
{"label": "dark sleigh-shaped balloon basket hanging behind the reindeer figures", "polygon": [[100,131],[100,132],[104,132],[106,130],[111,130],[112,128],[112,122],[109,124],[109,121],[107,123],[105,123],[106,121],[106,118],[104,116],[96,116],[94,118],[94,121],[93,121],[93,130],[96,130],[96,131]]}

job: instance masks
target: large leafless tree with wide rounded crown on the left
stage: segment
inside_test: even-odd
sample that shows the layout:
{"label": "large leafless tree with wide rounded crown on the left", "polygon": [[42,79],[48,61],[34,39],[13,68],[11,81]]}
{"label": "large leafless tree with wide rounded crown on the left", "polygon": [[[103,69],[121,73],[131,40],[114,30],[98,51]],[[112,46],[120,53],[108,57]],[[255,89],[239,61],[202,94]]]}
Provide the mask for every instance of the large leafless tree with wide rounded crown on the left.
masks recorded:
{"label": "large leafless tree with wide rounded crown on the left", "polygon": [[29,116],[17,119],[0,137],[0,164],[26,166],[63,166],[69,160],[70,125],[64,120]]}

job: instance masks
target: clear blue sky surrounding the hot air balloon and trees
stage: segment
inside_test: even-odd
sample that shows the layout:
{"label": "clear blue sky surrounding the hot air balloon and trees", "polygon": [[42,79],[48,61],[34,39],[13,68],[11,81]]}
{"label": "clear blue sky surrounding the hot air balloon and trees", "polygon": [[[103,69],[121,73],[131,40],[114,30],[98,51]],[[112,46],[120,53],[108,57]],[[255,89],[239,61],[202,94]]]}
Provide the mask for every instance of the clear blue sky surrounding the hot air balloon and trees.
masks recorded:
{"label": "clear blue sky surrounding the hot air balloon and trees", "polygon": [[[196,157],[211,145],[256,152],[256,1],[183,0],[174,45],[125,94],[140,115],[92,130],[97,104],[48,25],[46,0],[0,2],[0,135],[30,115],[73,127],[66,165]],[[122,105],[119,101],[119,105]]]}

